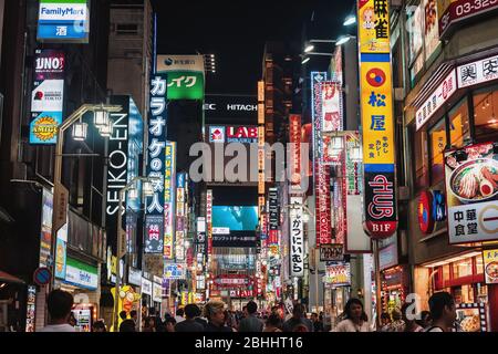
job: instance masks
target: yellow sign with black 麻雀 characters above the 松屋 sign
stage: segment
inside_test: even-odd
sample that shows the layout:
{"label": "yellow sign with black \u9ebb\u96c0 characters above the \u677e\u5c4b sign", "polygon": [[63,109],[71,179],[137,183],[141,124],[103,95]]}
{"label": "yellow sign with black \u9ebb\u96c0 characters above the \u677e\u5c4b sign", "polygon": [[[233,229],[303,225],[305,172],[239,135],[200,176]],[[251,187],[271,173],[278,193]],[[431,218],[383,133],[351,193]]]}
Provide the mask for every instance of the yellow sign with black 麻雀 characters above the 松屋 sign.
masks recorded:
{"label": "yellow sign with black \u9ebb\u96c0 characters above the \u677e\u5c4b sign", "polygon": [[388,0],[359,0],[360,52],[390,52]]}

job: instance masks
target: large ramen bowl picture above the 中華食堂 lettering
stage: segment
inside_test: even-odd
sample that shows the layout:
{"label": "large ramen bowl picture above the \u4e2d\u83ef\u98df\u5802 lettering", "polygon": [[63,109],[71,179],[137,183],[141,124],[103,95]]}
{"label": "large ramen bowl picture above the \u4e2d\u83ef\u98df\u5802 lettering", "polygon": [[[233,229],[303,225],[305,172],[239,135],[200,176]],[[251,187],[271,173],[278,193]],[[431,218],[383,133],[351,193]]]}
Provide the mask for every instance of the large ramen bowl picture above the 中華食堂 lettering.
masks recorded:
{"label": "large ramen bowl picture above the \u4e2d\u83ef\u98df\u5802 lettering", "polygon": [[491,199],[498,195],[498,162],[490,158],[466,162],[452,173],[449,186],[464,204]]}

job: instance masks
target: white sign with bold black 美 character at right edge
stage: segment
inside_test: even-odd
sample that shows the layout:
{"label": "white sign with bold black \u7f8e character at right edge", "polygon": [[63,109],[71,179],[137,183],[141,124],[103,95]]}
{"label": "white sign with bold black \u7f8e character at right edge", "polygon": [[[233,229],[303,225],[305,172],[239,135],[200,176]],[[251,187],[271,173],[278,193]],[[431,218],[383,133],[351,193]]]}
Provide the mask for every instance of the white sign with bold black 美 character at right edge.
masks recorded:
{"label": "white sign with bold black \u7f8e character at right edge", "polygon": [[469,87],[498,79],[498,56],[486,58],[457,67],[458,87]]}

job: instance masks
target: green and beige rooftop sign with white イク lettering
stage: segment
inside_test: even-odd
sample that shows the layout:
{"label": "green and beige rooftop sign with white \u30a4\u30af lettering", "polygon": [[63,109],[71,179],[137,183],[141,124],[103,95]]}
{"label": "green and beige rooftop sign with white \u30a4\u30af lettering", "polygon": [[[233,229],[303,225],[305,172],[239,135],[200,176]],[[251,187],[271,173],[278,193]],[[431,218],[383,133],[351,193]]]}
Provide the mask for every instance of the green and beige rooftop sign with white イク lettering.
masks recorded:
{"label": "green and beige rooftop sign with white \u30a4\u30af lettering", "polygon": [[157,73],[167,73],[168,100],[204,100],[204,55],[158,55]]}

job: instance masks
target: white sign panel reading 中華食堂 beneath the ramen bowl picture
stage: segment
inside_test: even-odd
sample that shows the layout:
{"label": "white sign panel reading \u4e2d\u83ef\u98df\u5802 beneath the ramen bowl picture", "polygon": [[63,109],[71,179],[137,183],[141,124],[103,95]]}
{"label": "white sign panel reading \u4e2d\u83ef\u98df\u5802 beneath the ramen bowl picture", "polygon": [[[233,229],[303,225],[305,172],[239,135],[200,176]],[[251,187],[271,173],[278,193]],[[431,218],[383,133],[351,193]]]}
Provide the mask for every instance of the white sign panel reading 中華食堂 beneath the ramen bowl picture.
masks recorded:
{"label": "white sign panel reading \u4e2d\u83ef\u98df\u5802 beneath the ramen bowl picture", "polygon": [[448,208],[449,243],[496,240],[498,235],[498,204],[463,205]]}

